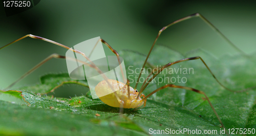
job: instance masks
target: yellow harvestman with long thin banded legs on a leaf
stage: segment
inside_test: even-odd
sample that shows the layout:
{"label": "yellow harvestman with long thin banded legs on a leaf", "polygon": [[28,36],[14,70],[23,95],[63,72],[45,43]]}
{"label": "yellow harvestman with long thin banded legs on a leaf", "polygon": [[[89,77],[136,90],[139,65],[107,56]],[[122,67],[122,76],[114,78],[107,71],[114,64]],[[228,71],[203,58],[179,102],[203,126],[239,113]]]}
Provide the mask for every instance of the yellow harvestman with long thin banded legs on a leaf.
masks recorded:
{"label": "yellow harvestman with long thin banded legs on a leaf", "polygon": [[[100,91],[102,91],[101,89],[104,89],[106,91],[108,90],[117,90],[116,92],[113,91],[114,93],[112,94],[109,94],[109,95],[106,95],[106,96],[103,96],[103,97],[100,97],[100,100],[103,101],[105,104],[108,104],[112,107],[121,107],[121,108],[135,108],[135,110],[139,110],[141,108],[144,108],[146,106],[146,99],[148,97],[150,97],[151,95],[155,94],[156,92],[158,92],[159,90],[161,89],[164,89],[164,88],[167,88],[167,87],[173,87],[173,88],[182,88],[182,89],[187,89],[187,90],[191,90],[193,92],[196,92],[196,93],[199,93],[199,94],[202,94],[205,96],[206,100],[208,101],[209,105],[211,106],[212,110],[214,110],[214,113],[216,115],[216,117],[218,118],[219,122],[221,123],[222,127],[224,128],[224,125],[219,117],[219,115],[217,114],[214,106],[212,106],[211,102],[209,101],[208,97],[205,95],[204,92],[202,92],[201,90],[198,90],[198,89],[194,89],[194,88],[191,88],[191,87],[186,87],[186,86],[179,86],[179,85],[174,85],[174,84],[166,84],[156,90],[154,90],[152,93],[148,94],[147,96],[144,96],[143,94],[141,94],[143,92],[143,90],[146,88],[146,86],[161,72],[163,71],[166,67],[169,67],[173,64],[176,64],[176,63],[180,63],[180,62],[183,62],[183,61],[188,61],[188,60],[196,60],[196,59],[200,59],[203,64],[205,65],[205,67],[208,69],[208,71],[211,73],[211,75],[215,78],[215,80],[222,86],[224,87],[225,89],[229,90],[229,91],[232,91],[232,92],[243,92],[245,90],[249,90],[253,87],[250,87],[250,88],[247,88],[247,89],[244,89],[244,90],[238,90],[238,91],[234,91],[234,90],[231,90],[227,87],[225,87],[223,84],[221,84],[219,82],[219,80],[215,77],[215,75],[210,71],[209,67],[207,66],[207,64],[204,62],[204,60],[197,56],[197,57],[190,57],[190,58],[185,58],[185,59],[181,59],[181,60],[177,60],[177,61],[174,61],[174,62],[171,62],[171,63],[167,63],[166,65],[162,66],[158,72],[153,75],[152,78],[150,78],[150,76],[153,74],[153,72],[146,78],[150,78],[150,80],[145,80],[145,82],[143,83],[143,85],[141,86],[139,92],[138,90],[136,89],[137,88],[137,85],[138,85],[138,82],[139,82],[139,79],[141,77],[141,74],[142,74],[142,71],[144,69],[144,66],[147,62],[147,59],[148,57],[150,56],[151,54],[151,51],[157,41],[157,39],[159,38],[160,34],[165,30],[167,29],[168,27],[180,22],[180,21],[183,21],[183,20],[186,20],[186,19],[189,19],[189,18],[192,18],[192,17],[200,17],[203,21],[206,22],[206,24],[208,24],[212,29],[214,29],[218,34],[221,35],[221,37],[223,39],[225,39],[232,47],[234,47],[235,49],[237,49],[238,51],[242,52],[240,49],[238,49],[230,40],[228,40],[214,25],[212,25],[205,17],[203,17],[200,13],[195,13],[195,14],[192,14],[192,15],[189,15],[189,16],[186,16],[186,17],[183,17],[179,20],[176,20],[174,22],[172,22],[171,24],[167,25],[166,27],[163,27],[151,49],[150,49],[150,52],[147,54],[147,57],[144,61],[144,64],[142,66],[142,69],[141,69],[141,72],[140,72],[140,75],[138,77],[138,81],[136,82],[136,85],[135,87],[131,87],[130,86],[130,82],[129,80],[127,80],[127,85],[125,85],[124,83],[122,82],[118,82],[116,80],[112,80],[112,79],[108,79],[102,72],[101,70],[89,59],[89,57],[87,57],[84,53],[78,51],[78,50],[73,50],[72,48],[69,48],[67,46],[64,46],[63,44],[60,44],[58,42],[55,42],[55,41],[52,41],[52,40],[49,40],[49,39],[46,39],[46,38],[42,38],[42,37],[39,37],[39,36],[35,36],[35,35],[31,35],[31,34],[28,34],[28,35],[25,35],[23,36],[22,38],[19,38],[17,40],[14,40],[13,42],[7,44],[6,46],[0,48],[0,50],[2,50],[3,48],[9,46],[10,44],[14,43],[14,42],[17,42],[21,39],[24,39],[26,37],[31,37],[31,38],[35,38],[35,39],[40,39],[40,40],[44,40],[44,41],[48,41],[48,42],[51,42],[53,44],[56,44],[57,46],[60,46],[60,47],[63,47],[63,48],[66,48],[68,50],[71,50],[75,53],[78,53],[78,54],[81,54],[84,58],[86,58],[91,64],[88,64],[86,62],[83,62],[83,61],[80,61],[80,60],[76,60],[76,61],[79,61],[81,63],[84,63],[84,64],[87,64],[89,65],[90,67],[93,67],[97,72],[99,72],[104,80],[99,82],[98,85],[95,87],[95,92],[96,94],[99,93]],[[114,50],[106,41],[104,41],[103,39],[100,39],[100,41],[102,43],[104,43],[116,56],[117,56],[117,59],[119,61],[119,64],[120,64],[120,58],[119,58],[119,54],[117,53],[116,50]],[[243,53],[243,52],[242,52]],[[244,53],[245,54],[245,53]],[[90,55],[89,55],[90,56]],[[25,73],[22,77],[20,77],[19,79],[17,79],[14,83],[12,83],[11,85],[9,85],[6,89],[12,87],[15,83],[17,83],[19,80],[25,78],[27,75],[29,75],[30,73],[32,73],[34,70],[36,70],[39,66],[41,66],[42,64],[44,64],[45,62],[47,62],[48,60],[52,59],[52,58],[64,58],[64,59],[71,59],[71,60],[74,60],[72,58],[68,58],[68,57],[65,57],[65,56],[61,56],[61,55],[58,55],[58,54],[52,54],[50,55],[49,57],[47,57],[46,59],[44,59],[43,61],[41,61],[39,64],[37,64],[36,66],[34,66],[30,71],[28,71],[27,73]],[[122,67],[120,67],[120,69],[122,69]],[[122,71],[122,70],[121,70]],[[123,73],[122,73],[122,76],[123,76]],[[124,76],[123,76],[124,78]],[[124,86],[120,89],[119,85],[121,86]],[[119,87],[119,88],[118,88]],[[254,86],[255,87],[255,86]],[[142,106],[143,105],[143,106]],[[141,107],[142,106],[142,107]]]}

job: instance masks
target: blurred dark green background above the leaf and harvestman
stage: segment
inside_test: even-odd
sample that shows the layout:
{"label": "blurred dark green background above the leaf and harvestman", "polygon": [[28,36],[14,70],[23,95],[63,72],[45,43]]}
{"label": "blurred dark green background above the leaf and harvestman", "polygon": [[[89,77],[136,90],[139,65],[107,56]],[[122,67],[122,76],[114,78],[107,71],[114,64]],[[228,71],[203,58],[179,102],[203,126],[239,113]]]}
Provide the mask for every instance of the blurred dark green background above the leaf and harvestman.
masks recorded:
{"label": "blurred dark green background above the leaf and harvestman", "polygon": [[[9,17],[6,17],[3,6],[0,7],[0,47],[26,34],[45,37],[68,47],[100,36],[117,51],[129,49],[147,54],[162,27],[199,12],[241,50],[249,54],[256,51],[255,2],[41,1],[35,7]],[[200,18],[168,28],[157,43],[182,54],[196,48],[203,48],[217,57],[236,53]],[[66,51],[32,38],[0,50],[0,89],[49,55],[65,55]],[[67,72],[66,60],[50,60],[14,88],[34,84],[41,75],[56,72]]]}

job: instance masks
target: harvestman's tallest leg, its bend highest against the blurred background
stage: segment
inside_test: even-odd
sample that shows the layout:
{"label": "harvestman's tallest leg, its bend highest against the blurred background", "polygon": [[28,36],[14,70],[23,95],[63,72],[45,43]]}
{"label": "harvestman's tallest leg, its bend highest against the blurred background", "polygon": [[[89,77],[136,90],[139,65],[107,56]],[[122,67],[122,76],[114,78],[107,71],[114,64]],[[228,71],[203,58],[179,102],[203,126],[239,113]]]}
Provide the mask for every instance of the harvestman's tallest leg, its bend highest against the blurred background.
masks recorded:
{"label": "harvestman's tallest leg, its bend highest against the blurred background", "polygon": [[222,34],[222,33],[220,32],[220,30],[218,30],[214,25],[212,25],[212,24],[210,23],[210,21],[208,21],[203,15],[201,15],[200,13],[191,14],[191,15],[189,15],[189,16],[183,17],[183,18],[181,18],[181,19],[179,19],[179,20],[176,20],[176,21],[170,23],[169,25],[163,27],[163,28],[158,32],[158,35],[157,35],[157,37],[156,37],[156,39],[155,39],[155,41],[154,41],[154,43],[153,43],[153,45],[152,45],[152,47],[151,47],[151,49],[150,49],[150,52],[148,52],[148,54],[147,54],[147,56],[146,56],[145,62],[144,62],[144,64],[143,64],[143,66],[142,66],[142,69],[141,69],[141,71],[140,71],[140,75],[139,75],[139,77],[138,77],[138,80],[137,80],[137,83],[136,83],[134,89],[137,88],[137,85],[138,85],[138,83],[139,83],[140,76],[141,76],[142,71],[143,71],[143,69],[144,69],[144,67],[145,67],[146,61],[147,61],[148,57],[150,56],[150,53],[151,53],[152,49],[154,48],[155,43],[156,43],[157,39],[159,38],[160,34],[161,34],[166,28],[168,28],[168,27],[170,27],[170,26],[172,26],[172,25],[174,25],[174,24],[177,24],[178,22],[181,22],[181,21],[184,21],[184,20],[186,20],[186,19],[192,18],[192,17],[200,17],[200,18],[201,18],[204,22],[206,22],[206,24],[209,25],[214,31],[216,31],[218,34],[220,34],[220,36],[221,36],[224,40],[226,40],[226,41],[230,44],[230,46],[232,46],[233,48],[237,49],[239,52],[241,52],[242,54],[244,54],[245,56],[247,56],[246,53],[244,53],[244,52],[243,52],[242,50],[240,50],[236,45],[234,45],[224,34]]}

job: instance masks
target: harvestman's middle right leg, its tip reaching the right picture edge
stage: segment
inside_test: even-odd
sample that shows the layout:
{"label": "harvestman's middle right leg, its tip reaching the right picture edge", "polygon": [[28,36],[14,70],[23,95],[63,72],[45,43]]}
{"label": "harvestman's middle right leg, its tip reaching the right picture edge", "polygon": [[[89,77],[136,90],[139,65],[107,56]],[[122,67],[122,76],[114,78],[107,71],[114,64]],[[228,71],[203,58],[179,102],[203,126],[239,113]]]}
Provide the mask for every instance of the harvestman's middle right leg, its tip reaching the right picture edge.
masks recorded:
{"label": "harvestman's middle right leg, its tip reaching the right picture edge", "polygon": [[[200,60],[204,63],[205,67],[206,67],[207,70],[210,72],[210,74],[215,78],[215,80],[216,80],[222,87],[224,87],[225,89],[229,90],[230,92],[244,92],[244,91],[246,91],[246,90],[249,90],[249,89],[252,89],[252,88],[255,88],[255,87],[256,87],[256,86],[252,86],[252,87],[249,87],[249,88],[246,88],[246,89],[243,89],[243,90],[232,90],[232,89],[227,88],[226,86],[224,86],[224,85],[215,77],[215,75],[211,72],[211,70],[209,69],[209,67],[207,66],[207,64],[204,62],[204,60],[203,60],[200,56],[197,56],[197,57],[190,57],[190,58],[185,58],[185,59],[177,60],[177,61],[174,61],[174,62],[172,62],[172,63],[167,63],[166,65],[162,66],[161,69],[158,70],[158,72],[157,72],[150,80],[148,80],[147,83],[144,85],[144,83],[146,82],[146,80],[145,80],[145,82],[143,83],[144,86],[141,86],[141,89],[140,89],[140,91],[139,91],[138,96],[143,92],[143,90],[146,88],[146,86],[147,86],[161,71],[163,71],[166,67],[169,67],[169,66],[171,66],[171,65],[173,65],[173,64],[180,63],[180,62],[183,62],[183,61],[195,60],[195,59],[200,59]],[[152,75],[152,72],[151,72],[151,74],[150,74],[148,77],[150,77],[151,75]],[[147,78],[148,78],[148,77],[147,77]],[[146,78],[146,79],[147,79],[147,78]],[[137,99],[138,99],[138,96],[137,96]]]}

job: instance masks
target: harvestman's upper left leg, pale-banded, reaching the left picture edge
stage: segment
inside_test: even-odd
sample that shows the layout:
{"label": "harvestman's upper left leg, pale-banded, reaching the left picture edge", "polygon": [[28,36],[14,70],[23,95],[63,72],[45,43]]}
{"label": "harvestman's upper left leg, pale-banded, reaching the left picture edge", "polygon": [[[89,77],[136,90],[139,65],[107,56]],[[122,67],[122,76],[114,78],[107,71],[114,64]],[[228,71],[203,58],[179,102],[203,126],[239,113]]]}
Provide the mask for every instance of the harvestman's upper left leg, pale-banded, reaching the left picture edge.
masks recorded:
{"label": "harvestman's upper left leg, pale-banded, reaching the left picture edge", "polygon": [[[82,53],[82,52],[80,52],[80,51],[78,51],[78,50],[75,50],[75,49],[73,50],[72,48],[69,48],[69,47],[67,47],[67,46],[64,46],[63,44],[60,44],[60,43],[55,42],[55,41],[53,41],[53,40],[49,40],[49,39],[47,39],[47,38],[43,38],[43,37],[40,37],[40,36],[35,36],[35,35],[32,35],[32,34],[28,34],[28,35],[25,35],[25,36],[23,36],[23,37],[17,39],[17,40],[14,40],[13,42],[11,42],[11,43],[9,43],[9,44],[6,44],[6,46],[0,48],[0,50],[6,48],[6,47],[8,47],[8,46],[10,46],[10,44],[15,43],[15,42],[17,42],[17,41],[19,41],[19,40],[22,40],[22,39],[24,39],[24,38],[26,38],[26,37],[31,37],[31,38],[34,38],[34,39],[40,39],[40,40],[44,40],[44,41],[47,41],[47,42],[51,42],[51,43],[53,43],[53,44],[56,44],[57,46],[60,46],[60,47],[66,48],[66,49],[68,49],[68,50],[71,50],[72,52],[81,54],[84,58],[86,58],[86,59],[92,64],[91,66],[92,66],[98,73],[101,74],[101,76],[104,78],[104,80],[106,81],[106,83],[108,83],[108,85],[111,87],[111,89],[112,89],[112,91],[114,92],[114,94],[115,94],[117,100],[120,101],[120,99],[118,98],[118,96],[117,96],[117,94],[116,94],[116,92],[115,92],[113,86],[109,83],[108,77],[106,77],[105,74],[104,74],[104,73],[103,73],[103,72],[102,72],[102,71],[84,54],[84,53]],[[115,51],[115,50],[113,50],[113,51]],[[36,69],[37,69],[37,67],[36,67]],[[32,71],[34,71],[34,70],[32,70]],[[32,71],[31,71],[31,72],[32,72]],[[29,72],[30,72],[30,71],[29,71]],[[30,73],[31,73],[31,72],[30,72]],[[28,74],[25,74],[24,77],[27,76],[27,75],[28,75]],[[22,77],[22,78],[24,78],[24,77]],[[22,79],[22,78],[21,78],[21,79]],[[19,79],[19,80],[20,80],[20,79]],[[18,80],[18,81],[19,81],[19,80]],[[14,82],[14,84],[15,84],[15,83],[16,83],[16,82]],[[14,84],[12,84],[12,85],[14,85]]]}

